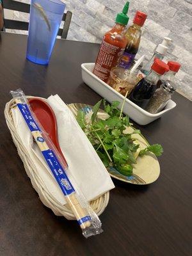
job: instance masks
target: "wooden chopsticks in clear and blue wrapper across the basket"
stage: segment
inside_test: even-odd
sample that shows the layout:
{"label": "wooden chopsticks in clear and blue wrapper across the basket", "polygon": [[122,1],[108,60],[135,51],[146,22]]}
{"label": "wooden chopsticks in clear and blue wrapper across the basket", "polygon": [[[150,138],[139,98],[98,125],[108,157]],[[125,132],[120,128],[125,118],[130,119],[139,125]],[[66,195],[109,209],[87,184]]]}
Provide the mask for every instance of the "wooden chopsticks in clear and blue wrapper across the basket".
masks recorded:
{"label": "wooden chopsticks in clear and blue wrapper across the basket", "polygon": [[77,222],[83,231],[83,236],[89,237],[100,234],[102,228],[97,214],[95,214],[92,207],[90,207],[87,200],[84,198],[83,193],[77,188],[74,178],[70,175],[70,179],[68,179],[66,173],[68,166],[61,159],[60,154],[45,133],[44,129],[38,124],[24,93],[20,89],[12,91],[11,93],[13,98],[15,98],[17,107],[28,125],[34,140],[44,156],[45,162],[48,164],[61,191],[65,195],[70,209],[76,216]]}

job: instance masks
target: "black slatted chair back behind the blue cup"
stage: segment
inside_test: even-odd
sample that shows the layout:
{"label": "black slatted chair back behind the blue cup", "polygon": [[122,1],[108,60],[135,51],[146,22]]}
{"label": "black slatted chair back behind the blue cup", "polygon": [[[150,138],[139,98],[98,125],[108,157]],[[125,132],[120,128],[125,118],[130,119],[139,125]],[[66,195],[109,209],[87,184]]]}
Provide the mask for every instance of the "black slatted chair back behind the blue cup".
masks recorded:
{"label": "black slatted chair back behind the blue cup", "polygon": [[[3,0],[3,9],[29,13],[30,4],[21,3],[13,0]],[[67,38],[71,18],[72,18],[72,12],[68,11],[67,13],[63,14],[62,20],[64,20],[64,26],[63,26],[63,29],[59,29],[58,31],[58,36],[61,36],[61,38],[65,38],[65,39]],[[4,19],[4,31],[6,31],[6,29],[28,30],[28,28],[29,28],[28,22]]]}

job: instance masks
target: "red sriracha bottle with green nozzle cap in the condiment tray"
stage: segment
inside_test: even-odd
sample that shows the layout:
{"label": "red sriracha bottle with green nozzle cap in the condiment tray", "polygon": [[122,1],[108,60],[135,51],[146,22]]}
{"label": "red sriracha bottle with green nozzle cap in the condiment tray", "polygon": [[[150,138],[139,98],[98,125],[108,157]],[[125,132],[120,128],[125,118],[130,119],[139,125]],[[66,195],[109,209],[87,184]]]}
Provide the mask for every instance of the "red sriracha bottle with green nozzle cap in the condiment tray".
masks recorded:
{"label": "red sriracha bottle with green nozzle cap in the condiment tray", "polygon": [[104,82],[108,81],[111,68],[116,67],[127,45],[124,32],[125,26],[129,21],[129,17],[127,16],[128,9],[129,2],[125,4],[122,13],[116,15],[115,26],[104,35],[100,45],[93,74]]}

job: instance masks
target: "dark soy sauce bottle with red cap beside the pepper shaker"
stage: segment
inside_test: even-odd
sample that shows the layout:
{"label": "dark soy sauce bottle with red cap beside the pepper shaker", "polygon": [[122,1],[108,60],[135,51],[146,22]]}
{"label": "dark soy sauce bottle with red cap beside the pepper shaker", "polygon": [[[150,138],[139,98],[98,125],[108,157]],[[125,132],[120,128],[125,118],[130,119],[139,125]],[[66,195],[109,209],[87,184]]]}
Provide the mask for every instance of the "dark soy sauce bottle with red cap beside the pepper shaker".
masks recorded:
{"label": "dark soy sauce bottle with red cap beside the pepper shaker", "polygon": [[146,77],[141,79],[136,87],[132,91],[129,99],[145,109],[147,107],[148,101],[154,94],[157,88],[157,82],[165,72],[168,72],[169,67],[163,61],[155,59],[151,67],[150,72]]}

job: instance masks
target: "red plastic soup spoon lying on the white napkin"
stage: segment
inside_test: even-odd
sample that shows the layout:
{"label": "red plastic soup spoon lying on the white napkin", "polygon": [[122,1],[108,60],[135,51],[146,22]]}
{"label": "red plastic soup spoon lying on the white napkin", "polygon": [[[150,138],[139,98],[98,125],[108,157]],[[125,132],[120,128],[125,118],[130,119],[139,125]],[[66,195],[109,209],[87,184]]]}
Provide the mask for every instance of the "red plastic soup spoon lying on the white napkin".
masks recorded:
{"label": "red plastic soup spoon lying on the white napkin", "polygon": [[66,164],[66,166],[68,166],[58,141],[56,116],[54,115],[52,108],[49,106],[49,104],[47,104],[47,102],[45,102],[45,100],[39,98],[31,98],[28,101],[33,113],[38,119],[38,122],[40,122],[45,132],[47,132],[52,143],[60,153],[60,156],[63,159],[64,163]]}

